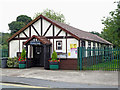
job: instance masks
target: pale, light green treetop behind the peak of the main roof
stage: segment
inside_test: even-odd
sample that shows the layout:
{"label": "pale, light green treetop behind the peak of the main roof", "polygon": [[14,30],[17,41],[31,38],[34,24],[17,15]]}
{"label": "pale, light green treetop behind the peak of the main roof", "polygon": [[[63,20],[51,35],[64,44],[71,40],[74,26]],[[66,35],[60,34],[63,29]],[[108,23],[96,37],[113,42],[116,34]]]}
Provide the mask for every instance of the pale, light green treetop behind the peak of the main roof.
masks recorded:
{"label": "pale, light green treetop behind the peak of the main roof", "polygon": [[65,17],[64,17],[63,14],[55,12],[53,10],[49,10],[49,9],[46,9],[41,13],[36,13],[35,16],[33,17],[33,19],[35,19],[36,17],[38,17],[41,14],[43,16],[47,17],[47,18],[50,18],[50,19],[65,23]]}

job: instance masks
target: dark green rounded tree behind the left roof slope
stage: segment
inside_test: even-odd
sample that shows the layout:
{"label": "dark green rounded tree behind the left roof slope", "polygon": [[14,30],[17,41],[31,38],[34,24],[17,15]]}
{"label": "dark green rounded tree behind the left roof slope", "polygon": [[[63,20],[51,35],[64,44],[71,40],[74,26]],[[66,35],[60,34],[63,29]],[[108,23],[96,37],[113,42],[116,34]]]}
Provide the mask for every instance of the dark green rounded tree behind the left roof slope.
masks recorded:
{"label": "dark green rounded tree behind the left roof slope", "polygon": [[9,29],[11,30],[11,34],[16,33],[19,31],[22,27],[24,27],[26,24],[28,24],[30,21],[32,21],[31,17],[28,17],[27,15],[20,15],[16,18],[16,21],[12,21],[8,24]]}

